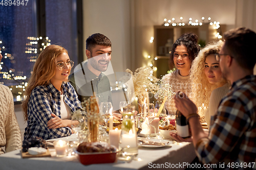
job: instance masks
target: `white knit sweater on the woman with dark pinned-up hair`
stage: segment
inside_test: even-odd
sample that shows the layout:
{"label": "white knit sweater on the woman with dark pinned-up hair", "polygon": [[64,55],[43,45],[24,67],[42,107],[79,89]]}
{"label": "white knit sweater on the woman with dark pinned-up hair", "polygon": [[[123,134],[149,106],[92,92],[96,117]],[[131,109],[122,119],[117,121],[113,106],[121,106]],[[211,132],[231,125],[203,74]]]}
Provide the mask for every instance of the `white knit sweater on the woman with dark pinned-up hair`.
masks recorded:
{"label": "white knit sweater on the woman with dark pinned-up hair", "polygon": [[[189,97],[191,95],[191,84],[189,76],[181,76],[179,70],[171,72],[162,78],[162,83],[169,84],[173,92],[182,91]],[[173,98],[168,98],[164,104],[168,114],[176,114],[177,108]]]}

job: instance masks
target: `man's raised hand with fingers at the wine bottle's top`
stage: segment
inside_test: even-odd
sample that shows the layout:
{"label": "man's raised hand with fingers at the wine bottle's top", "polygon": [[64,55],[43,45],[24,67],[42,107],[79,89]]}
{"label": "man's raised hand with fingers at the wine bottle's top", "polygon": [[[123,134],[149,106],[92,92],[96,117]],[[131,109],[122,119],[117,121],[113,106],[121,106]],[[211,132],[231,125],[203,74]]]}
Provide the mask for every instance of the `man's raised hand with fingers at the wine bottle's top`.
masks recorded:
{"label": "man's raised hand with fingers at the wine bottle's top", "polygon": [[174,102],[177,109],[186,117],[189,114],[197,113],[197,106],[187,98],[183,92],[178,92],[174,96]]}

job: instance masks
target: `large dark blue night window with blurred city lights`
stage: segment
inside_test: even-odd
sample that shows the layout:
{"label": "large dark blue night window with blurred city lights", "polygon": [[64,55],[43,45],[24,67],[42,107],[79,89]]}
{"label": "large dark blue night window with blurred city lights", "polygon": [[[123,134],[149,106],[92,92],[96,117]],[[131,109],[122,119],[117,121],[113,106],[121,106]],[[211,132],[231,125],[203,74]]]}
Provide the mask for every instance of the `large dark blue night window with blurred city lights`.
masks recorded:
{"label": "large dark blue night window with blurred city lights", "polygon": [[0,83],[11,89],[14,102],[24,100],[33,65],[47,45],[67,48],[71,60],[78,64],[78,54],[82,58],[78,49],[82,37],[77,36],[80,6],[81,0],[29,0],[23,6],[0,5]]}

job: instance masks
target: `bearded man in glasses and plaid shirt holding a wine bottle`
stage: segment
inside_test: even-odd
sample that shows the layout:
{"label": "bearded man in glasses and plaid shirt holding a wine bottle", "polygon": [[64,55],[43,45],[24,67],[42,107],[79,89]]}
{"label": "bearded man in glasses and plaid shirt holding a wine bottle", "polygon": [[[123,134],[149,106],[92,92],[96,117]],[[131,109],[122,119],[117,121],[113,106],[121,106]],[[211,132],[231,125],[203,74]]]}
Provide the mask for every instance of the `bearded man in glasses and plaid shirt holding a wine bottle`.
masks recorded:
{"label": "bearded man in glasses and plaid shirt holding a wine bottle", "polygon": [[217,117],[211,117],[207,136],[199,122],[197,107],[184,93],[175,97],[177,109],[189,122],[196,153],[203,163],[228,168],[256,168],[256,33],[247,28],[224,33],[224,45],[216,60],[232,87],[222,99]]}

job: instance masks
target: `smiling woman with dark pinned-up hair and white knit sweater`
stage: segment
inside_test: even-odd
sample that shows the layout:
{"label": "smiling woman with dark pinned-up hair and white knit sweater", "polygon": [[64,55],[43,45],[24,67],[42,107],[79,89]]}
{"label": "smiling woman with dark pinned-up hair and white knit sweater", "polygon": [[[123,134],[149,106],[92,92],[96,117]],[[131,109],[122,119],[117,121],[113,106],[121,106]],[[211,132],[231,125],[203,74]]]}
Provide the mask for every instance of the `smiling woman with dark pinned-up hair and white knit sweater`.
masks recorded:
{"label": "smiling woman with dark pinned-up hair and white knit sweater", "polygon": [[[168,114],[175,114],[177,108],[175,106],[172,92],[184,91],[188,96],[191,94],[191,84],[189,81],[189,70],[191,63],[200,51],[200,46],[197,44],[198,36],[193,33],[181,35],[173,44],[172,52],[170,53],[170,69],[172,72],[165,75],[161,80],[161,86],[155,98],[163,98],[168,96],[165,102],[165,109]],[[163,90],[163,88],[170,90]],[[161,103],[161,102],[160,102]]]}

